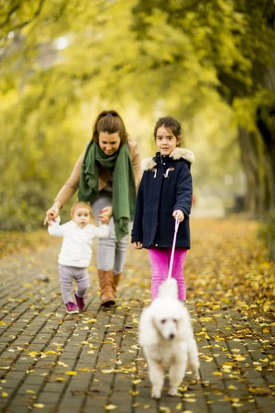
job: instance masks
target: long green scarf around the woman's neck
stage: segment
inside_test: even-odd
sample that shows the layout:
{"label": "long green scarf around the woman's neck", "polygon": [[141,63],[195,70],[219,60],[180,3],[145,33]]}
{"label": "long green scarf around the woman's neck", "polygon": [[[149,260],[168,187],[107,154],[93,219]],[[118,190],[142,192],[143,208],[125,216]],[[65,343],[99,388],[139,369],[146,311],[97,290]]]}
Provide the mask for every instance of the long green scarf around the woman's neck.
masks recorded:
{"label": "long green scarf around the woman's neck", "polygon": [[87,146],[81,167],[78,200],[93,202],[98,195],[98,167],[113,171],[113,221],[119,241],[129,233],[128,224],[135,213],[135,176],[126,142],[112,156],[107,156],[92,140]]}

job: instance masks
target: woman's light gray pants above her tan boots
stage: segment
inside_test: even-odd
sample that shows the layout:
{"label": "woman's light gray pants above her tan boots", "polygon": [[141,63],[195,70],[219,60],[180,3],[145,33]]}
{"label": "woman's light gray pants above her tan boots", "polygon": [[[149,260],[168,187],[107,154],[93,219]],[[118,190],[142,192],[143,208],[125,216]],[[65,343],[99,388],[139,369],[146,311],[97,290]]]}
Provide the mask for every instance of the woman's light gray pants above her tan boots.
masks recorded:
{"label": "woman's light gray pants above her tan boots", "polygon": [[[112,195],[100,193],[91,204],[97,224],[98,215],[104,207],[112,206]],[[103,271],[113,270],[114,274],[121,273],[126,259],[129,235],[125,235],[120,241],[115,238],[115,225],[113,218],[109,223],[109,238],[102,238],[98,242],[98,268]]]}

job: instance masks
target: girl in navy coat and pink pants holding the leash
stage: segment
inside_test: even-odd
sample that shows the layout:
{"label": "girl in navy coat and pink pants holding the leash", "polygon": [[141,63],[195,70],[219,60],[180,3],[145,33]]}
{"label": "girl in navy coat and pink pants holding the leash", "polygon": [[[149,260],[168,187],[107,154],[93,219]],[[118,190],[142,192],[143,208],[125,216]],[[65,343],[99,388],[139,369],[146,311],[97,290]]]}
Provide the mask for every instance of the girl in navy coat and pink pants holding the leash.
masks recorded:
{"label": "girl in navy coat and pink pants holding the leash", "polygon": [[190,248],[189,215],[192,204],[190,165],[194,154],[181,148],[181,125],[166,116],[159,118],[154,130],[158,152],[142,161],[144,170],[137,192],[132,242],[135,248],[148,248],[152,267],[152,299],[168,277],[175,230],[177,232],[172,277],[177,279],[179,299],[186,299],[183,268]]}

